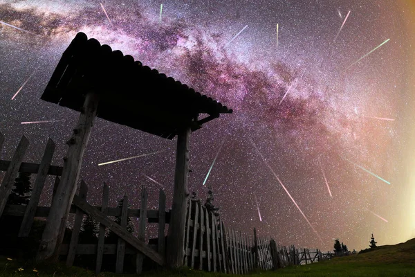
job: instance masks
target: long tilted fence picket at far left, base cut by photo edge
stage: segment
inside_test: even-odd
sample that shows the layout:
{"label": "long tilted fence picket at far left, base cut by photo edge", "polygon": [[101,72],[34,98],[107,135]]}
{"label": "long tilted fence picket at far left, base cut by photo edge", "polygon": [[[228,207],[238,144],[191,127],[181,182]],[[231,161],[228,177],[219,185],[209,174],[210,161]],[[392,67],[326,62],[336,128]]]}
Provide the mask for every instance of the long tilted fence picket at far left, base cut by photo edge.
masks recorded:
{"label": "long tilted fence picket at far left, base cut by photo edge", "polygon": [[[17,145],[16,152],[13,154],[12,161],[10,162],[6,174],[3,177],[3,181],[0,186],[0,217],[3,214],[4,207],[6,206],[8,197],[12,191],[13,184],[15,184],[15,179],[17,171],[19,170],[21,161],[23,161],[24,154],[28,149],[29,141],[26,139],[26,136],[22,136],[19,144]],[[26,207],[25,207],[26,208]]]}

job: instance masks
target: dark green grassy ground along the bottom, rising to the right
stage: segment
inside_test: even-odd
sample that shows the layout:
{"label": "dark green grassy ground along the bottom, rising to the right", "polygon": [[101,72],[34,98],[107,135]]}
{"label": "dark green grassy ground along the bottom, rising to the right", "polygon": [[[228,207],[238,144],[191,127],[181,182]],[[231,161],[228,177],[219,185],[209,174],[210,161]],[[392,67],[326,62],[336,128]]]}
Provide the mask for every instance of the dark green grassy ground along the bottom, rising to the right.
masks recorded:
{"label": "dark green grassy ground along the bottom, rising to the right", "polygon": [[[9,258],[10,259],[10,258]],[[23,269],[23,270],[22,270]],[[35,269],[35,270],[34,270]],[[8,260],[0,256],[0,276],[95,276],[93,271],[77,267],[66,267],[64,264],[34,267],[31,262]],[[120,276],[104,272],[100,276]],[[122,274],[122,276],[133,276]],[[174,271],[151,271],[141,276],[229,276],[228,274],[212,274],[192,269]],[[415,277],[415,239],[396,245],[378,247],[375,251],[347,257],[333,258],[312,265],[287,267],[277,271],[257,271],[249,276],[261,277],[299,277],[299,276],[414,276]]]}

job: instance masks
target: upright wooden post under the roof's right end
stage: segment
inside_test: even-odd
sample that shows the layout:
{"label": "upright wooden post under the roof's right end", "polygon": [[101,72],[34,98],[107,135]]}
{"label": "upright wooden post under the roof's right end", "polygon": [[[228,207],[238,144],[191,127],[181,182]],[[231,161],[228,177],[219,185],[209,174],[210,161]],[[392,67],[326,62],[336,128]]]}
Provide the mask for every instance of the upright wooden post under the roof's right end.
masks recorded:
{"label": "upright wooden post under the roof's right end", "polygon": [[189,173],[189,137],[190,127],[178,132],[176,151],[176,172],[174,175],[174,193],[167,235],[167,267],[183,266],[185,255],[186,206],[189,192],[187,175]]}

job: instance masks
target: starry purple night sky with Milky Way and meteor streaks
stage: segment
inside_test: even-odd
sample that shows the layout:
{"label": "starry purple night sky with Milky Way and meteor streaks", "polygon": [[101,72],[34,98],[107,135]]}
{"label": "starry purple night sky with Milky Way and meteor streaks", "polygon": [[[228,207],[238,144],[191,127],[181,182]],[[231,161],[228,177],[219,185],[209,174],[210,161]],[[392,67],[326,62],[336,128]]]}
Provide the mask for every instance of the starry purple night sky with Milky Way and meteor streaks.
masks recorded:
{"label": "starry purple night sky with Milky Way and meteor streaks", "polygon": [[[25,161],[50,137],[62,166],[78,114],[40,96],[82,31],[234,110],[190,137],[189,189],[204,199],[212,186],[227,226],[322,250],[415,236],[414,1],[0,0],[0,21],[1,159],[25,134]],[[44,120],[59,121],[21,124]],[[149,208],[160,188],[170,206],[175,148],[96,119],[89,202],[105,181],[112,206],[127,193],[138,208],[142,186]]]}

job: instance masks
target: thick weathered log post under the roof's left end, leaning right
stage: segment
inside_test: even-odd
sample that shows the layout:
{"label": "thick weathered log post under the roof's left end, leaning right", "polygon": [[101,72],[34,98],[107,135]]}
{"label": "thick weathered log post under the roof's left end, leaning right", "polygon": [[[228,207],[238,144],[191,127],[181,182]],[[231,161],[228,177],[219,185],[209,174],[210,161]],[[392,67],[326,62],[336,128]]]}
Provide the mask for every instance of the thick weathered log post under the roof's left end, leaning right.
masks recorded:
{"label": "thick weathered log post under the roof's left end, leaning right", "polygon": [[66,220],[71,209],[73,197],[80,176],[82,158],[89,141],[91,127],[98,109],[98,95],[87,93],[84,106],[80,113],[77,127],[73,130],[71,139],[67,142],[68,152],[64,158],[64,168],[61,181],[57,187],[55,199],[50,206],[50,213],[42,235],[42,241],[37,252],[36,260],[50,259],[57,262],[59,248],[64,239]]}

